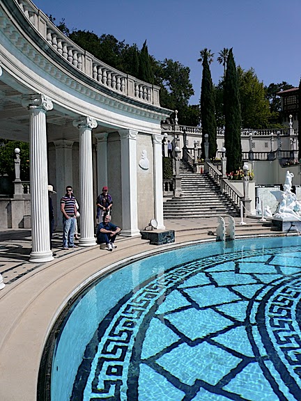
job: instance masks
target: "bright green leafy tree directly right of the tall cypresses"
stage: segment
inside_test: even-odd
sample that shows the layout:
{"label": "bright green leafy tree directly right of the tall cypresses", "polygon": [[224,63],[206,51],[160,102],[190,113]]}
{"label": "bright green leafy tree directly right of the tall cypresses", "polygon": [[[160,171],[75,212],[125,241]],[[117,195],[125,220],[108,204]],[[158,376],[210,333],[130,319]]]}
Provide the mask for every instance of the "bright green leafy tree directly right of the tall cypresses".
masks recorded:
{"label": "bright green leafy tree directly right of the tall cypresses", "polygon": [[242,128],[263,129],[269,127],[270,106],[265,89],[253,68],[244,71],[238,67]]}

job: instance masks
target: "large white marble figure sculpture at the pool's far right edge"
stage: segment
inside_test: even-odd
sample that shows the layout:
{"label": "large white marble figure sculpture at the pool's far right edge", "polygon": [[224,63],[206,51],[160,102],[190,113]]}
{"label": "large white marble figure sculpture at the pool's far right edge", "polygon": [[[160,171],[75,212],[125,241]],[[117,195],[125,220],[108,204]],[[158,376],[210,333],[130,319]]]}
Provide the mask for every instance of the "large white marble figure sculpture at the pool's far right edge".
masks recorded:
{"label": "large white marble figure sculpture at the pool's far right edge", "polygon": [[293,173],[286,171],[284,191],[271,191],[279,202],[274,219],[282,221],[301,221],[301,203],[291,191]]}

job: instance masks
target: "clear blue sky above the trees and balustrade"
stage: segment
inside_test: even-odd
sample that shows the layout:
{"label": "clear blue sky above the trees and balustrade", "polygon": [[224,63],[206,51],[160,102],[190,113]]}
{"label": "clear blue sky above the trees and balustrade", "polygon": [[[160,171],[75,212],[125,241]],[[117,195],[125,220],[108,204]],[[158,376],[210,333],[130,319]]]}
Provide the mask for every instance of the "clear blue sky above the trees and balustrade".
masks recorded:
{"label": "clear blue sky above the trees and balustrade", "polygon": [[254,68],[268,86],[287,81],[299,86],[301,76],[300,0],[34,0],[69,29],[107,33],[139,49],[144,40],[157,60],[172,58],[190,68],[199,103],[199,52],[215,54],[210,65],[213,82],[222,76],[216,61],[224,47],[233,47],[236,65]]}

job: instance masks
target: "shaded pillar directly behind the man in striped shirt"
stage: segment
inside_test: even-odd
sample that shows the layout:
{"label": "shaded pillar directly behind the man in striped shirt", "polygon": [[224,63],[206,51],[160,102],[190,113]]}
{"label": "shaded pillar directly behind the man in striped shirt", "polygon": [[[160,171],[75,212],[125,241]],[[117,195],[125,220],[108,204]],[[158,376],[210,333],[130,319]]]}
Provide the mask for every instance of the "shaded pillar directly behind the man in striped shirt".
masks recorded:
{"label": "shaded pillar directly behind the man in striped shirt", "polygon": [[65,195],[65,187],[71,185],[73,187],[72,178],[72,146],[73,141],[54,141],[56,152],[56,182],[55,190],[56,195],[56,212],[57,221],[56,227],[63,230],[63,216],[61,213],[61,197]]}

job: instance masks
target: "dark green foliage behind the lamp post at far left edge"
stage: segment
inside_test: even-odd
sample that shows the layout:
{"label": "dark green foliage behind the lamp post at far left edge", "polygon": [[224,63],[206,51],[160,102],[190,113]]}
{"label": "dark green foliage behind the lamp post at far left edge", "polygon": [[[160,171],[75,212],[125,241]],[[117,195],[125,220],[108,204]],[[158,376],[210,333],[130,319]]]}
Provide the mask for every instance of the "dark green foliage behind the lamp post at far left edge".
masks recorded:
{"label": "dark green foliage behind the lamp post at far left edge", "polygon": [[15,180],[15,148],[20,149],[20,178],[29,181],[29,143],[0,139],[0,175]]}

